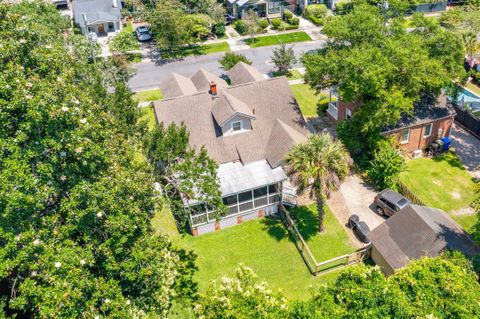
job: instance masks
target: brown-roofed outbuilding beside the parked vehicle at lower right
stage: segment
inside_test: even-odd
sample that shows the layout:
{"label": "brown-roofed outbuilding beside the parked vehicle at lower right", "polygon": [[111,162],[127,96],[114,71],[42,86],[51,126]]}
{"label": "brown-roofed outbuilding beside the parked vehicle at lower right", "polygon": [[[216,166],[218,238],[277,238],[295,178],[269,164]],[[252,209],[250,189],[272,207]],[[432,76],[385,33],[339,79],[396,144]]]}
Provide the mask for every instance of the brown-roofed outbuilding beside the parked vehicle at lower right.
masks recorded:
{"label": "brown-roofed outbuilding beside the parked vehicle at lower right", "polygon": [[444,250],[467,256],[480,253],[467,233],[439,209],[409,205],[368,235],[371,258],[386,275],[421,257],[436,257]]}

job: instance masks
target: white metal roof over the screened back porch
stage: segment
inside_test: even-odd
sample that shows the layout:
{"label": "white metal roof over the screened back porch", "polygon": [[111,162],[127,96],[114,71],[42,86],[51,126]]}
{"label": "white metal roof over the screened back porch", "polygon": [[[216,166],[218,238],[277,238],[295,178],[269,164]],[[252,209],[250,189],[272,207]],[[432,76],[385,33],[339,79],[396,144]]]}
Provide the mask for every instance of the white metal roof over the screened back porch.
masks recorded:
{"label": "white metal roof over the screened back porch", "polygon": [[274,184],[287,179],[282,167],[271,168],[266,160],[243,165],[229,162],[218,167],[222,195],[240,193],[249,189]]}

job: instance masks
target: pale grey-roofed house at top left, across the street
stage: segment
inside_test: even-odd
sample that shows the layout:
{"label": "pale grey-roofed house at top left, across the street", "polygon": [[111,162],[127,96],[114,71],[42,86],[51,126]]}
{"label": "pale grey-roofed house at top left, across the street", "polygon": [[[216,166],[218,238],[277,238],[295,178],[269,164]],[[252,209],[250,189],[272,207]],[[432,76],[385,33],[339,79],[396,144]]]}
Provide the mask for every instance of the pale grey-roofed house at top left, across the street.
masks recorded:
{"label": "pale grey-roofed house at top left, across the street", "polygon": [[82,34],[98,36],[121,29],[122,4],[120,0],[73,0],[73,19]]}

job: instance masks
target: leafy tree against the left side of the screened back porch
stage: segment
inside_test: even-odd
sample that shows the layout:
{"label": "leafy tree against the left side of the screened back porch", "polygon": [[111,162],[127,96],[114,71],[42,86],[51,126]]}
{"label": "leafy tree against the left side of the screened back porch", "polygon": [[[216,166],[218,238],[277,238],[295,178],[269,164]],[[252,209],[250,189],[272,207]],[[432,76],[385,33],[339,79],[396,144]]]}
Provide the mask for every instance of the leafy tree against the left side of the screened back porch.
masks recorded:
{"label": "leafy tree against the left side of the screened back porch", "polygon": [[184,209],[189,201],[198,201],[212,208],[217,217],[225,212],[217,178],[217,163],[202,147],[196,151],[188,144],[189,133],[184,124],[158,125],[146,135],[145,154],[153,165],[155,180],[169,199],[180,229],[188,221]]}

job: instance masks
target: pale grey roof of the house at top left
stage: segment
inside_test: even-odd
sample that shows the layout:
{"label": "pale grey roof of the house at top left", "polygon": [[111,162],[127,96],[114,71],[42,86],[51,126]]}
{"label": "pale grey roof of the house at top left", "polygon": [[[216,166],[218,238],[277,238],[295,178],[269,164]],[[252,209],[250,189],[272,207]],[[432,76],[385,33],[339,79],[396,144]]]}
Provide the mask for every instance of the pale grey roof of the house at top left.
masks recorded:
{"label": "pale grey roof of the house at top left", "polygon": [[[114,6],[114,3],[116,7]],[[121,17],[120,0],[73,0],[72,12],[76,23],[84,24],[83,14],[87,24],[95,22],[116,22]]]}

